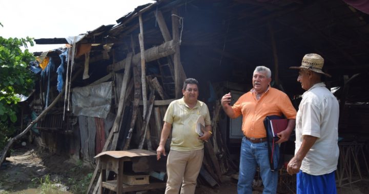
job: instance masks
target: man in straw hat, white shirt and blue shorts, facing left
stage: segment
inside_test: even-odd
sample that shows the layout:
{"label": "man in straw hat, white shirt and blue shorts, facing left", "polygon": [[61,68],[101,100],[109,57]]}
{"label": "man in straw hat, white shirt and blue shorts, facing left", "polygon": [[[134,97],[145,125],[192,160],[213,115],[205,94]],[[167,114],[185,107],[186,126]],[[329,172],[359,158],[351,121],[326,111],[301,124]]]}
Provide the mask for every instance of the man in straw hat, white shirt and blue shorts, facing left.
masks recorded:
{"label": "man in straw hat, white shirt and blue shorts, facing left", "polygon": [[324,59],[317,54],[303,57],[297,81],[306,92],[296,115],[295,156],[287,172],[297,174],[297,193],[337,193],[335,171],[339,155],[339,104],[321,76]]}

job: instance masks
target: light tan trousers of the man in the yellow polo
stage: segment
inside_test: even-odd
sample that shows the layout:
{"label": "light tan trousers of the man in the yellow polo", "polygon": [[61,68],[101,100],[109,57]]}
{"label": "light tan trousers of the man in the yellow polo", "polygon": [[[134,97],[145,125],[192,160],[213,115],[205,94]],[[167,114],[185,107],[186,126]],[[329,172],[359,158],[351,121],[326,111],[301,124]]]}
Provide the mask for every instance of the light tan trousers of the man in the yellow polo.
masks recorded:
{"label": "light tan trousers of the man in the yellow polo", "polygon": [[[179,152],[171,150],[167,159],[166,194],[195,193],[196,180],[200,172],[203,150]],[[182,184],[182,187],[181,187]]]}

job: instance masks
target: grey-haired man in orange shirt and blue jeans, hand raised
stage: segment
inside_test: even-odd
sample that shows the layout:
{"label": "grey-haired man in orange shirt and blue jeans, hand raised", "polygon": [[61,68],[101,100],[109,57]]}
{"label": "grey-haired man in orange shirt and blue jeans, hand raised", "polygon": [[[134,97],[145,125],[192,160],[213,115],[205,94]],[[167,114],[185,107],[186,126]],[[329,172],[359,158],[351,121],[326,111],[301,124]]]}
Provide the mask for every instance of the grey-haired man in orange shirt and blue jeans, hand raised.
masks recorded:
{"label": "grey-haired man in orange shirt and blue jeans, hand raised", "polygon": [[249,92],[243,94],[233,106],[230,105],[231,93],[221,99],[223,110],[230,118],[243,116],[238,193],[252,193],[257,165],[264,185],[263,193],[277,192],[278,172],[270,169],[267,132],[263,123],[265,117],[283,114],[289,119],[288,127],[277,134],[280,137],[277,143],[287,141],[295,128],[296,109],[288,95],[270,86],[271,75],[268,67],[257,66],[252,79],[253,88]]}

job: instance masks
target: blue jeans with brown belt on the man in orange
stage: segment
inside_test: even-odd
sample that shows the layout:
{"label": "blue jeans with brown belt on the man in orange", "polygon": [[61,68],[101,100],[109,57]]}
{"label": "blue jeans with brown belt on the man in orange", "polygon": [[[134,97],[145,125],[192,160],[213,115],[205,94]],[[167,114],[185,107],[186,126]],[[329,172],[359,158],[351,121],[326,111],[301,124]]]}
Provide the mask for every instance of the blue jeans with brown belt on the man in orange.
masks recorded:
{"label": "blue jeans with brown belt on the man in orange", "polygon": [[268,158],[268,143],[252,143],[242,138],[239,176],[237,184],[238,194],[252,193],[252,183],[256,167],[260,167],[261,180],[264,185],[263,194],[277,192],[278,171],[271,171]]}

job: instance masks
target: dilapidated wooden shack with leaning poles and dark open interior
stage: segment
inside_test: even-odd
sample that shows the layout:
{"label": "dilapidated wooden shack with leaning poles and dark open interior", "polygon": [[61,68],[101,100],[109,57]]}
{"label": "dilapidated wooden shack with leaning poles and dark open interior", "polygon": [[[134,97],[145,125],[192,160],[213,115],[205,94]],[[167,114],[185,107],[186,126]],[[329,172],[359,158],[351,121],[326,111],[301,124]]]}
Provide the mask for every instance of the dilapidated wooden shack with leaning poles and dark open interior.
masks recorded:
{"label": "dilapidated wooden shack with leaning poles and dark open interior", "polygon": [[[272,87],[297,107],[303,90],[289,67],[299,66],[307,53],[320,54],[325,72],[333,76],[325,82],[340,100],[340,136],[368,140],[369,16],[344,1],[159,0],[116,22],[70,40],[35,40],[70,46],[38,53],[56,66],[64,61],[65,69],[62,97],[37,125],[46,148],[93,165],[101,151],[156,150],[166,107],[181,98],[183,80],[195,78],[215,131],[206,143],[204,168],[220,184],[221,174],[237,169],[242,134],[219,99],[229,91],[249,91],[254,68],[264,65],[272,70]],[[61,53],[67,58],[60,59]],[[38,113],[45,110],[45,91],[50,102],[59,93],[52,74],[53,87],[48,89],[45,80],[36,84],[32,106]],[[106,82],[112,88],[105,96],[111,100],[108,114],[73,113],[78,88],[93,90]],[[93,104],[88,96],[83,101]]]}

